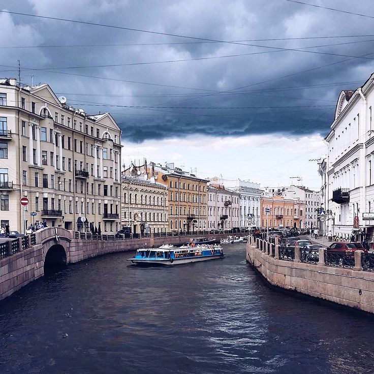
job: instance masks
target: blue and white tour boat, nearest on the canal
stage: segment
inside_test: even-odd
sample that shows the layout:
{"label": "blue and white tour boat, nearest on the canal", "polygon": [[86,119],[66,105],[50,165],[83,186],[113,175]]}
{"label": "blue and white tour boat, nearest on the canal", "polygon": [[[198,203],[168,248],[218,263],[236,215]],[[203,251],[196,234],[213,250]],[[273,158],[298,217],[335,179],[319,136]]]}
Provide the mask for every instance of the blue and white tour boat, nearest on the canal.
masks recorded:
{"label": "blue and white tour boat, nearest on the canal", "polygon": [[214,260],[225,257],[221,245],[183,245],[179,248],[141,248],[133,258],[127,259],[138,265],[175,265]]}

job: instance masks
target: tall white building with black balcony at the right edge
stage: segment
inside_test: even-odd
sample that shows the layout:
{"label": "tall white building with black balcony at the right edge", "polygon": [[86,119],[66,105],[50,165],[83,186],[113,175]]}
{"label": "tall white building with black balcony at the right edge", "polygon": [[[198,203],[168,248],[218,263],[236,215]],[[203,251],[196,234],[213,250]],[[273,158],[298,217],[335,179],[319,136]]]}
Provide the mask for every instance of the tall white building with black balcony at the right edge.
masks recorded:
{"label": "tall white building with black balcony at the right edge", "polygon": [[327,158],[320,167],[324,173],[325,230],[333,229],[334,234],[346,238],[358,232],[373,238],[373,79],[374,74],[361,87],[340,92],[325,138]]}

